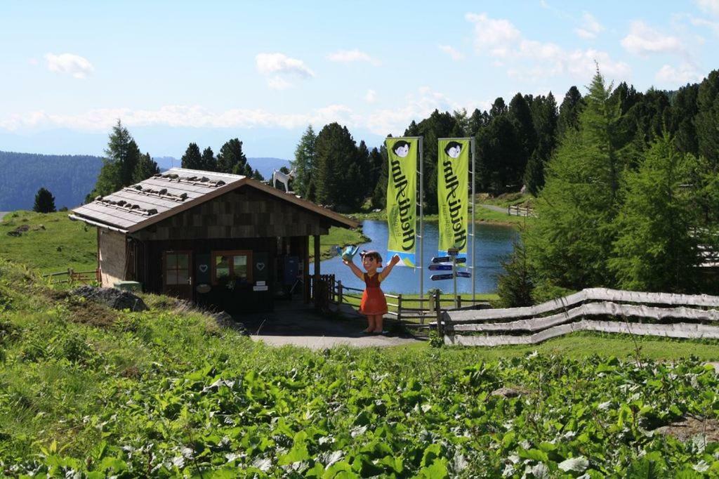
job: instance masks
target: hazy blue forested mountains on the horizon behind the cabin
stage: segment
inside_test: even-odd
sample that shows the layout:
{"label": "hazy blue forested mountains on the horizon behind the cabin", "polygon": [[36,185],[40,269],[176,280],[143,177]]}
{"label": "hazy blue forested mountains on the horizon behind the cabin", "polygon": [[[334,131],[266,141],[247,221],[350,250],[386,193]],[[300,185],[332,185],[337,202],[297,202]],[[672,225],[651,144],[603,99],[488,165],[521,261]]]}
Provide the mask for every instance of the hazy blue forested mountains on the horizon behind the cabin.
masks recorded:
{"label": "hazy blue forested mountains on the horizon behind the cabin", "polygon": [[[154,158],[161,170],[180,166],[177,158]],[[252,168],[269,179],[273,170],[290,162],[280,158],[248,158]],[[35,155],[0,151],[0,211],[32,209],[42,187],[55,196],[55,206],[83,204],[102,168],[102,158],[90,155]]]}

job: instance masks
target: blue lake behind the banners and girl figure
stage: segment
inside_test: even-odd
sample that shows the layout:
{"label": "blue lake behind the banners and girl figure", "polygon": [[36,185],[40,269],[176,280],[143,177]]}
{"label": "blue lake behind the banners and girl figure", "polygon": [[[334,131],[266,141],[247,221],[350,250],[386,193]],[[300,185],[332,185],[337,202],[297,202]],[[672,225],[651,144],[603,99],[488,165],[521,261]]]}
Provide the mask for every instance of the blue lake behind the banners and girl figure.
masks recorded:
{"label": "blue lake behind the banners and girl figure", "polygon": [[[362,231],[365,236],[372,238],[372,241],[360,246],[360,250],[377,250],[383,258],[383,265],[387,260],[387,222],[365,220],[362,222]],[[475,275],[475,291],[477,293],[493,293],[497,289],[497,275],[502,272],[500,261],[508,257],[512,251],[512,245],[518,241],[519,232],[513,227],[500,226],[497,224],[477,224],[477,239],[475,240],[475,256],[477,259],[477,270]],[[430,288],[440,288],[444,293],[452,293],[452,280],[432,281],[429,277],[436,273],[446,271],[429,271],[426,269],[432,257],[437,255],[439,244],[439,230],[437,222],[425,222],[424,224],[424,270],[423,289],[426,293]],[[419,247],[419,245],[418,245]],[[417,250],[419,255],[419,250]],[[471,252],[467,253],[467,264],[471,265]],[[359,255],[354,259],[354,264],[362,269]],[[310,267],[312,274],[313,266]],[[359,280],[347,265],[342,263],[339,256],[321,263],[322,274],[334,274],[335,278],[342,280],[344,286],[352,288],[365,288],[365,283]],[[471,271],[471,270],[470,270]],[[385,293],[419,293],[419,270],[413,268],[402,268],[395,266],[392,273],[382,283]],[[458,293],[472,293],[472,280],[469,278],[457,278]]]}

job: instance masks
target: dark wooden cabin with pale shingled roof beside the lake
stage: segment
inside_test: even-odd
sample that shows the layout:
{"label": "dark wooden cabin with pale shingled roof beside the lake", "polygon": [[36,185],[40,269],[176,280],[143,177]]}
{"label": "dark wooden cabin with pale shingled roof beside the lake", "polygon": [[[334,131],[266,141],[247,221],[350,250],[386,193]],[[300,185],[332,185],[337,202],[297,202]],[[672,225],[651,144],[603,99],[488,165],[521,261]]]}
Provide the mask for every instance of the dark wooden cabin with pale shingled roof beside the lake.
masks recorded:
{"label": "dark wooden cabin with pale shingled roof beside the lake", "polygon": [[[142,289],[232,313],[310,298],[309,248],[357,222],[240,175],[173,168],[98,197],[70,219],[97,227],[102,286]],[[319,279],[319,262],[313,275]]]}

